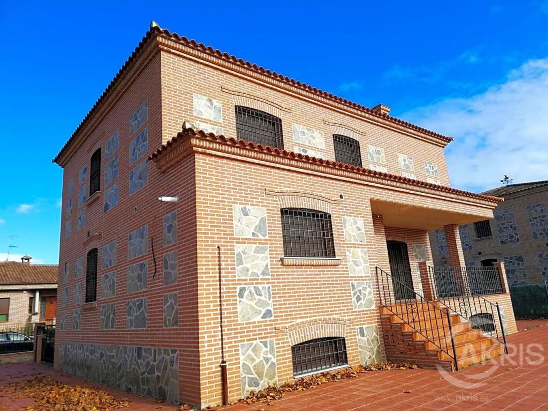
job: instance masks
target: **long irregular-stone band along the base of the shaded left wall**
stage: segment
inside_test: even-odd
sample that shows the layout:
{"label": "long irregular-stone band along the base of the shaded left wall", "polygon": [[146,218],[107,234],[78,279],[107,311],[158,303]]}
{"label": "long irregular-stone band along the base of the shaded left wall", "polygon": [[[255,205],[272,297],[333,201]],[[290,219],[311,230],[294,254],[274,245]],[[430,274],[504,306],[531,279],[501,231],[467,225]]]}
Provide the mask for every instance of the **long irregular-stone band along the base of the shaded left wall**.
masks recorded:
{"label": "long irregular-stone band along the base of the shaded left wall", "polygon": [[178,350],[63,342],[59,370],[139,395],[180,401]]}

